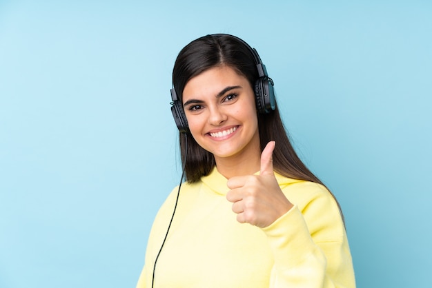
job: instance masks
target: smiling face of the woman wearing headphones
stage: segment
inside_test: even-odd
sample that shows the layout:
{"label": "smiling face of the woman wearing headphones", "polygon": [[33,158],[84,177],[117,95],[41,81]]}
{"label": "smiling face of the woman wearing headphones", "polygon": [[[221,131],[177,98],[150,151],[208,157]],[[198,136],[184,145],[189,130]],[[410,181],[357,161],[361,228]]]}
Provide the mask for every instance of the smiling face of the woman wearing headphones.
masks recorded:
{"label": "smiling face of the woman wearing headphones", "polygon": [[211,68],[190,79],[183,105],[195,141],[216,161],[259,156],[255,94],[248,80],[233,68]]}

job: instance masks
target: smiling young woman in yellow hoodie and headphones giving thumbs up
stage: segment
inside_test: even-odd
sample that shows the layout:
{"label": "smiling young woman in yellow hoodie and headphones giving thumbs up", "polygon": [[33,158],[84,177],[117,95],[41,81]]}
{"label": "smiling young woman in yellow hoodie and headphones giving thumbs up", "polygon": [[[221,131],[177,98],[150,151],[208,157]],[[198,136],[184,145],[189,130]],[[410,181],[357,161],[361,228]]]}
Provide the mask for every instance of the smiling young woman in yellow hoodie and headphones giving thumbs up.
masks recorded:
{"label": "smiling young woman in yellow hoodie and headphones giving thumbs up", "polygon": [[340,207],[288,140],[256,50],[192,41],[171,94],[187,182],[155,218],[137,287],[355,287]]}

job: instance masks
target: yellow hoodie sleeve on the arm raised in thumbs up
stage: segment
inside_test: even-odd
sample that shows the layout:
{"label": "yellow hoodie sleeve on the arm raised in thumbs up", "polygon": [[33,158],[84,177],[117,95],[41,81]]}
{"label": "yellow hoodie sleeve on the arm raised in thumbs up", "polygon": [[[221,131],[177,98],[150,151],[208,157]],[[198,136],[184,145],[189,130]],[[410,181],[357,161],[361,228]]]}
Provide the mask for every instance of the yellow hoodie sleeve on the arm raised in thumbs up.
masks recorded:
{"label": "yellow hoodie sleeve on the arm raised in thumbs up", "polygon": [[273,251],[272,288],[355,287],[344,223],[322,185],[295,183],[282,189],[294,207],[263,229]]}

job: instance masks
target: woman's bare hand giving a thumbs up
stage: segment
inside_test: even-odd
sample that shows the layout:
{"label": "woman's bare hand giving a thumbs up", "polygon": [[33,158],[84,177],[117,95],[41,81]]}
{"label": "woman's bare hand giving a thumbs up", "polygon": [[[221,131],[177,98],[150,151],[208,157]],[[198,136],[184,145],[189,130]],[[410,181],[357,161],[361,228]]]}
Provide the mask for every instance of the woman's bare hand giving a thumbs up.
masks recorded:
{"label": "woman's bare hand giving a thumbs up", "polygon": [[261,154],[259,175],[235,176],[228,180],[226,198],[233,203],[239,223],[267,227],[288,212],[293,204],[285,197],[273,172],[275,142],[267,143]]}

